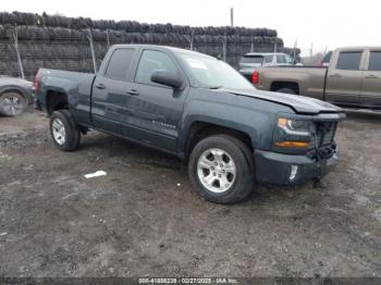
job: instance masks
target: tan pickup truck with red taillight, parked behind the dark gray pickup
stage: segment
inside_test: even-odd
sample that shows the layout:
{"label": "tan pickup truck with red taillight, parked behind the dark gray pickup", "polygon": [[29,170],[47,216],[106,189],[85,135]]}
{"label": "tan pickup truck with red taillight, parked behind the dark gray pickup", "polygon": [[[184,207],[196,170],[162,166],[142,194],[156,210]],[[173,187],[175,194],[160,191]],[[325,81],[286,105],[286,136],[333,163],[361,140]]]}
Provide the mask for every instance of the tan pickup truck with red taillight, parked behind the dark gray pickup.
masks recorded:
{"label": "tan pickup truck with red taillight, parked behind the dark gray pickup", "polygon": [[336,49],[327,67],[258,67],[244,75],[262,90],[314,97],[346,108],[381,109],[381,47]]}

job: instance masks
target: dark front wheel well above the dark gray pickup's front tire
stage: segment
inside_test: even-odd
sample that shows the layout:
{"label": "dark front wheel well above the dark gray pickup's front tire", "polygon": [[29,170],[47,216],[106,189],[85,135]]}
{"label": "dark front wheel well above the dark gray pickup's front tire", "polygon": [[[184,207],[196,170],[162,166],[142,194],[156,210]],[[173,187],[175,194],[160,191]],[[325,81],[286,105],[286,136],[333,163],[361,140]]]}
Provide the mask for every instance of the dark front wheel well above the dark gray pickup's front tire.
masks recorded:
{"label": "dark front wheel well above the dark gray pickup's front tire", "polygon": [[211,135],[231,135],[241,141],[243,141],[251,151],[253,151],[253,145],[251,145],[251,138],[249,135],[247,135],[244,132],[220,126],[211,123],[205,123],[205,122],[195,122],[192,124],[189,128],[187,137],[187,142],[185,147],[185,160],[187,161],[193,148],[197,145],[198,141],[201,139],[211,136]]}

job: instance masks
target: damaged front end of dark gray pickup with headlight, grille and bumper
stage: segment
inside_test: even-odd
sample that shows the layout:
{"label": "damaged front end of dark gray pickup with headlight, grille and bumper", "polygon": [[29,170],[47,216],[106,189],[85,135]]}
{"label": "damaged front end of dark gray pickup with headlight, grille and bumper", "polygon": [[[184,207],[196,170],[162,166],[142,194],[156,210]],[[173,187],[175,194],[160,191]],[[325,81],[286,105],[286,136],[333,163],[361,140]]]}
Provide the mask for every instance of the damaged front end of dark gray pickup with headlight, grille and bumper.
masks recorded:
{"label": "damaged front end of dark gray pickup with headlight, grille and bumper", "polygon": [[279,114],[272,150],[255,150],[257,179],[298,184],[322,178],[339,162],[334,136],[344,117],[344,113]]}

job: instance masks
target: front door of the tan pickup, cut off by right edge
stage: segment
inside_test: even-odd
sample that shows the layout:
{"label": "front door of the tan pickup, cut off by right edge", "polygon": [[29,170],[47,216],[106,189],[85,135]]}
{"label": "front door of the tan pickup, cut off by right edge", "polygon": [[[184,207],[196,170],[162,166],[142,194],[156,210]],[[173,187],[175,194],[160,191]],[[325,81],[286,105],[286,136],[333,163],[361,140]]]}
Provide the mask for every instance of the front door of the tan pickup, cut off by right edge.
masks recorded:
{"label": "front door of the tan pickup, cut off by right edge", "polygon": [[367,51],[360,101],[362,106],[381,108],[381,49]]}

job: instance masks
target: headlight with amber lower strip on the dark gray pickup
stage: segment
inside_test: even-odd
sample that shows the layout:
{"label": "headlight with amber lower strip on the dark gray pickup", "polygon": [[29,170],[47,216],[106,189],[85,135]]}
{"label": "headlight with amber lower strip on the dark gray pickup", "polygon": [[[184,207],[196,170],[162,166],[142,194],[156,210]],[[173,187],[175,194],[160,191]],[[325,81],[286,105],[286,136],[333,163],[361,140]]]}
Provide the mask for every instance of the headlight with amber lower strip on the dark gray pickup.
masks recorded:
{"label": "headlight with amber lower strip on the dark gray pickup", "polygon": [[280,117],[274,132],[274,146],[305,149],[310,146],[315,124],[307,120]]}

